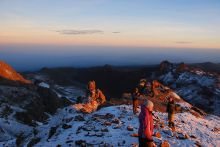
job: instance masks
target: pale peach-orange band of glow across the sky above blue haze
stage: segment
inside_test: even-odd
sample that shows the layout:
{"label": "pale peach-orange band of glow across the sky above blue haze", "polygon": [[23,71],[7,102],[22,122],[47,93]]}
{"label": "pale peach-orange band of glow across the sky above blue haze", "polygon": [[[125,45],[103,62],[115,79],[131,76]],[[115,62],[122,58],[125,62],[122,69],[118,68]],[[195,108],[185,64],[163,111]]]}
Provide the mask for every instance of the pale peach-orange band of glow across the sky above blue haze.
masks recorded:
{"label": "pale peach-orange band of glow across the sky above blue haze", "polygon": [[[167,30],[146,29],[145,32],[105,32],[100,34],[59,34],[47,29],[33,28],[0,28],[0,44],[54,44],[54,45],[103,45],[129,47],[160,47],[160,48],[201,48],[220,49],[220,38],[185,37],[181,33],[170,33]],[[187,39],[186,39],[187,38]],[[189,41],[182,41],[189,40]]]}

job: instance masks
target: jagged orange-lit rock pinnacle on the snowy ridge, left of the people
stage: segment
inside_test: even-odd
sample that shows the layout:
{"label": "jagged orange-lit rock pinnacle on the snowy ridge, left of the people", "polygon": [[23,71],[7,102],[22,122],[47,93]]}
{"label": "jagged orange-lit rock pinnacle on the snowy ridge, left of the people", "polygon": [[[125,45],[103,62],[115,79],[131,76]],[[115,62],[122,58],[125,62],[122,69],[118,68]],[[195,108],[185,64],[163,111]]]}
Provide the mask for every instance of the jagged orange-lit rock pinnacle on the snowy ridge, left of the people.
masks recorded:
{"label": "jagged orange-lit rock pinnacle on the snowy ridge, left of the people", "polygon": [[101,90],[96,89],[95,81],[89,81],[85,101],[75,104],[73,107],[83,113],[92,113],[97,110],[98,106],[106,102],[105,95]]}

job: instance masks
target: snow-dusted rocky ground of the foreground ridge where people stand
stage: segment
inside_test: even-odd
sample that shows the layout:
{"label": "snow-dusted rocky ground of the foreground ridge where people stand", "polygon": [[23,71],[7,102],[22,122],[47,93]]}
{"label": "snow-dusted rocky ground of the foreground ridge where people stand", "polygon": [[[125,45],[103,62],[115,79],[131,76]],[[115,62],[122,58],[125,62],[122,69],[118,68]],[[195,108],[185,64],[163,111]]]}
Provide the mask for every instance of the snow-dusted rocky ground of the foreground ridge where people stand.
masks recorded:
{"label": "snow-dusted rocky ground of the foreground ridge where people stand", "polygon": [[[75,121],[75,117],[81,115],[85,121]],[[168,140],[171,146],[217,146],[220,144],[219,132],[212,131],[220,128],[220,118],[208,116],[205,119],[196,118],[192,114],[185,112],[176,114],[176,132],[172,133],[167,127],[167,114],[155,112],[158,123],[164,122],[164,128],[157,128],[155,132],[160,132],[162,137],[154,140],[157,144]],[[71,121],[69,121],[71,120]],[[118,120],[118,121],[116,121]],[[70,126],[63,129],[62,126]],[[85,140],[87,145],[113,145],[132,146],[138,144],[136,137],[131,137],[138,130],[138,116],[133,115],[132,106],[121,105],[102,108],[92,114],[76,113],[71,107],[62,109],[55,117],[52,117],[47,125],[40,126],[39,136],[41,142],[37,147],[52,147],[56,145],[75,146],[75,141]],[[58,127],[56,133],[48,139],[50,127]],[[128,131],[127,127],[133,128]],[[108,131],[108,132],[107,132]],[[177,139],[175,136],[187,134],[189,139]],[[173,135],[173,136],[170,136]]]}

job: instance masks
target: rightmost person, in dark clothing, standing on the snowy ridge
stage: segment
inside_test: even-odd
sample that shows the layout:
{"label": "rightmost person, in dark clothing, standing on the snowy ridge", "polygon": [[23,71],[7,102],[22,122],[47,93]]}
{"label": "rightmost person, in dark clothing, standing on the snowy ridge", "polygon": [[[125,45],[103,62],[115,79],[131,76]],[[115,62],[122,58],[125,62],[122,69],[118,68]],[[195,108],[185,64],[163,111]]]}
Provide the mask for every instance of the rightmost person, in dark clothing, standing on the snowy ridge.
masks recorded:
{"label": "rightmost person, in dark clothing, standing on the snowy ridge", "polygon": [[168,123],[170,128],[174,128],[174,114],[176,111],[176,105],[172,96],[169,97],[167,103],[167,112],[168,112]]}

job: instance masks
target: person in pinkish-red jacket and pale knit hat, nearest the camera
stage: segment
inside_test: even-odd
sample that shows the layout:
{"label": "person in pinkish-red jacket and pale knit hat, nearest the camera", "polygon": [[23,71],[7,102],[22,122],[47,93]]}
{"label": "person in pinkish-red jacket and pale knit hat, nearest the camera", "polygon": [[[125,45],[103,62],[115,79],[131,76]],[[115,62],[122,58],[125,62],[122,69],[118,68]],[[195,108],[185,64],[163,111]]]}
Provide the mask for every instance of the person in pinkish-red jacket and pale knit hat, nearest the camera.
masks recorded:
{"label": "person in pinkish-red jacket and pale knit hat, nearest the camera", "polygon": [[153,146],[153,102],[146,100],[143,105],[141,105],[141,113],[139,115],[139,130],[138,130],[138,140],[139,147],[152,147]]}

